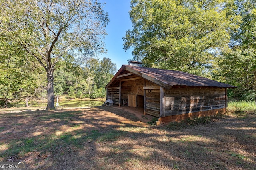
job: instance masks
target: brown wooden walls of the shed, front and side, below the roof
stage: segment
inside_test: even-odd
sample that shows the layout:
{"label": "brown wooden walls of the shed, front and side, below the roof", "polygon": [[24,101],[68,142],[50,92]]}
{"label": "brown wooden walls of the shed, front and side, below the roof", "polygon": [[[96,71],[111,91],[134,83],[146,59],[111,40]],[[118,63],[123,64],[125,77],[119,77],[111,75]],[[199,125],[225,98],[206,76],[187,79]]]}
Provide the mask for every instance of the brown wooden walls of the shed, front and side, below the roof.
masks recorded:
{"label": "brown wooden walls of the shed, front and side, below the roof", "polygon": [[156,117],[223,109],[227,105],[226,88],[173,86],[166,90],[140,77],[130,79],[121,78],[121,87],[109,87],[107,99],[119,106],[122,99],[128,99],[128,106],[144,107],[145,114]]}

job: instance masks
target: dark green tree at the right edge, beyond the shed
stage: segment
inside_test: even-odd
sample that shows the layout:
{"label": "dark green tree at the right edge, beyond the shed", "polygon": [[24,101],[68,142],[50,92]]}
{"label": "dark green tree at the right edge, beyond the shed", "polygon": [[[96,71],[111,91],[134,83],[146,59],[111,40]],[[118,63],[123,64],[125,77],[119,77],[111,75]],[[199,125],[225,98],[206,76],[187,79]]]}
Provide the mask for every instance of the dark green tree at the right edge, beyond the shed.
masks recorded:
{"label": "dark green tree at the right edge, beyond the shed", "polygon": [[238,16],[237,29],[231,32],[230,50],[222,51],[220,76],[238,86],[234,97],[254,100],[256,96],[256,2],[234,0],[227,4],[228,15]]}

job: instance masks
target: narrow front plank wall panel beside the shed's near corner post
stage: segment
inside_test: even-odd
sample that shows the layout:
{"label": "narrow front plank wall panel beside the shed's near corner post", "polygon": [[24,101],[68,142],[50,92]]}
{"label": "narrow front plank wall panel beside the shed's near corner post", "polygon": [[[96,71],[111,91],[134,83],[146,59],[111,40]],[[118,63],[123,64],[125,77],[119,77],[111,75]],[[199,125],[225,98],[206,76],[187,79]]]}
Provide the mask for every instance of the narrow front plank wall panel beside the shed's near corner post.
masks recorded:
{"label": "narrow front plank wall panel beside the shed's near corner post", "polygon": [[145,81],[145,112],[149,115],[159,117],[160,114],[160,86],[155,83]]}

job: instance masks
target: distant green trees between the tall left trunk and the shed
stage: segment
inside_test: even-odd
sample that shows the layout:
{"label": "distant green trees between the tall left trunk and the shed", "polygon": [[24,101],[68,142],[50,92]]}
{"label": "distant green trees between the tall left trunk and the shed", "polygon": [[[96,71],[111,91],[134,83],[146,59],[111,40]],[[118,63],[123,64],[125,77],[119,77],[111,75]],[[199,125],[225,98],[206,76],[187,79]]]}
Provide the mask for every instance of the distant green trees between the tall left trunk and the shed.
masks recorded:
{"label": "distant green trees between the tall left trunk and the shed", "polygon": [[[72,70],[73,69],[73,70]],[[66,94],[67,98],[105,98],[105,86],[116,72],[116,64],[110,58],[89,58],[84,66],[66,70],[61,67],[56,70],[54,92],[57,95]]]}

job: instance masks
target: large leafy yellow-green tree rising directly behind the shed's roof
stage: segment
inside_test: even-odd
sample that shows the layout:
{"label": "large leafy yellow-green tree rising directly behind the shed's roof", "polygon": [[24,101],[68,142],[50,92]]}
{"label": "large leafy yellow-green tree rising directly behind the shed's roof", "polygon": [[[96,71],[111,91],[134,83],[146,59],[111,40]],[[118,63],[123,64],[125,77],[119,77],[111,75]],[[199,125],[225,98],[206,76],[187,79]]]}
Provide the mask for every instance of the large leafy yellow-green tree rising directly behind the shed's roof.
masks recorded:
{"label": "large leafy yellow-green tree rising directly behind the shed's roof", "polygon": [[182,70],[206,76],[215,54],[227,48],[226,0],[132,0],[132,30],[124,49],[133,47],[134,60],[154,68]]}

